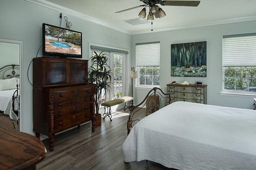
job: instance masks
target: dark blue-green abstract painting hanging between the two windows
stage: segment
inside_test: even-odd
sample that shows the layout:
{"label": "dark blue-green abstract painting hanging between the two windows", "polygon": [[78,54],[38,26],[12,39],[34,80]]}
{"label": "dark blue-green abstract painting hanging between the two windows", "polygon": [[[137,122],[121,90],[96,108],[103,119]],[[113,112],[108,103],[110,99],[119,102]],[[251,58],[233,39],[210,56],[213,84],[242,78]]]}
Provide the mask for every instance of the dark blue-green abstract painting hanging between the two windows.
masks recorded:
{"label": "dark blue-green abstract painting hanging between the two windows", "polygon": [[171,76],[206,77],[206,42],[172,44]]}

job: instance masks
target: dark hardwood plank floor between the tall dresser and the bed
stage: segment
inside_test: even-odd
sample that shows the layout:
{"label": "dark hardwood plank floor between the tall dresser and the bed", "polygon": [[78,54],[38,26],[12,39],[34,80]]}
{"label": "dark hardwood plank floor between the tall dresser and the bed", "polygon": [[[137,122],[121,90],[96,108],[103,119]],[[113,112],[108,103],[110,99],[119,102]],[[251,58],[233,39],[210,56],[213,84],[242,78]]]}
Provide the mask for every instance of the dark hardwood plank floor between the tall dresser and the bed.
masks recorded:
{"label": "dark hardwood plank floor between the tall dresser and the bed", "polygon": [[[102,126],[92,132],[87,123],[58,134],[54,138],[54,150],[49,151],[49,140],[43,140],[46,158],[37,164],[38,170],[142,170],[145,160],[124,162],[122,144],[127,137],[126,123],[130,111],[102,119]],[[147,170],[164,170],[160,164],[148,161]]]}

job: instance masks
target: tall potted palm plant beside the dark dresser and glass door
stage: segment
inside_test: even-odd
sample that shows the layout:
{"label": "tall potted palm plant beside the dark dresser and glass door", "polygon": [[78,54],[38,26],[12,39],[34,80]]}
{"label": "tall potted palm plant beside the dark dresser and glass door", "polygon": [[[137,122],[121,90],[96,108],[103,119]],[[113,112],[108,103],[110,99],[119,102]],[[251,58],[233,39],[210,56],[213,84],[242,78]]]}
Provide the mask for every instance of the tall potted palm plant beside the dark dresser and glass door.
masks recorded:
{"label": "tall potted palm plant beside the dark dresser and glass door", "polygon": [[99,113],[100,103],[102,97],[105,96],[106,91],[111,89],[111,80],[113,73],[110,66],[107,64],[108,55],[101,51],[99,54],[93,50],[93,55],[90,57],[91,66],[88,71],[88,82],[96,84],[95,92],[95,127],[101,126],[101,114]]}

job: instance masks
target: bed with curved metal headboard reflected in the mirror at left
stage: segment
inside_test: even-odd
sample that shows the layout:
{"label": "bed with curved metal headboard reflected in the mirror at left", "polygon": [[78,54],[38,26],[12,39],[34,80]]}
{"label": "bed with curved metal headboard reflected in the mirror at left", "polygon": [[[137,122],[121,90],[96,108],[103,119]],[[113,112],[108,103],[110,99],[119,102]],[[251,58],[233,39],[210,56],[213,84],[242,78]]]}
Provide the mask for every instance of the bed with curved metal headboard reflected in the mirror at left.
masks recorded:
{"label": "bed with curved metal headboard reflected in the mirror at left", "polygon": [[0,68],[0,111],[18,120],[19,109],[19,65]]}

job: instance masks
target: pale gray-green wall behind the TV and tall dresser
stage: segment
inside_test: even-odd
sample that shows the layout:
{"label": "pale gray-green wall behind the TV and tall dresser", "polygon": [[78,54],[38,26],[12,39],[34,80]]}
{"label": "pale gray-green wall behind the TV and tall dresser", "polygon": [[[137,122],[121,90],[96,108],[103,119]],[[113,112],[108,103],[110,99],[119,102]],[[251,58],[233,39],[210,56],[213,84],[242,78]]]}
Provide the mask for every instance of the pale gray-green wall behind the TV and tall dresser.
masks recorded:
{"label": "pale gray-green wall behind the TV and tall dresser", "polygon": [[[1,0],[0,1],[0,38],[23,41],[23,131],[29,134],[33,132],[33,99],[32,64],[28,77],[27,71],[30,61],[36,57],[39,47],[42,45],[42,23],[59,26],[60,12],[45,8],[24,0]],[[82,32],[83,59],[89,59],[89,42],[108,45],[131,50],[131,36],[110,28],[99,26],[80,18],[66,15],[72,23],[71,30]],[[62,27],[65,21],[62,20]],[[42,49],[38,57],[42,56]],[[1,62],[1,61],[0,61]],[[128,57],[128,62],[130,58]]]}

